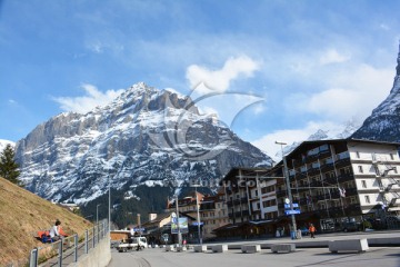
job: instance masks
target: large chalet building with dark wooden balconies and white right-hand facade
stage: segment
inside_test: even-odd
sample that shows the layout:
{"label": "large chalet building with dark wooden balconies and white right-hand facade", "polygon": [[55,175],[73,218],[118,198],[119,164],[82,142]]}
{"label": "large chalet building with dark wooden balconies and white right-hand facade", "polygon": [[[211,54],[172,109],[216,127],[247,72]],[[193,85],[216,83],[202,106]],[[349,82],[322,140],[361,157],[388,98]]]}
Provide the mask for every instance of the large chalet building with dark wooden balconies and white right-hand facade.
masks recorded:
{"label": "large chalet building with dark wooden balconies and white right-hand facade", "polygon": [[[341,222],[382,218],[400,210],[399,144],[340,139],[304,141],[286,156],[300,222],[322,230]],[[287,187],[278,180],[279,214]]]}

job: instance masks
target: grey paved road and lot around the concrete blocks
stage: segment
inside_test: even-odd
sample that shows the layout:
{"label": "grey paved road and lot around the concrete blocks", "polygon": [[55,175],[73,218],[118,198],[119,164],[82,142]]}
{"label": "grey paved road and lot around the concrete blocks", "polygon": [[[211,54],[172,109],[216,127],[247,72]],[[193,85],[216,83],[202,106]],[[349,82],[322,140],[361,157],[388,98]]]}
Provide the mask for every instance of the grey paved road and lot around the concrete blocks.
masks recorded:
{"label": "grey paved road and lot around the concrete blocks", "polygon": [[[357,236],[354,236],[357,235]],[[351,238],[384,238],[398,237],[400,233],[381,234],[350,234],[321,235],[316,239],[303,238],[301,241],[351,239]],[[289,238],[257,240],[257,244],[290,241]],[[300,240],[296,240],[300,241]],[[243,244],[243,241],[241,241]],[[249,244],[250,241],[246,241]],[[230,243],[239,244],[239,243]],[[258,254],[242,254],[241,250],[230,249],[223,254],[166,253],[162,248],[148,248],[142,251],[118,253],[112,249],[112,260],[109,267],[303,267],[303,266],[343,266],[343,267],[400,267],[400,247],[370,247],[364,254],[339,253],[331,254],[328,248],[298,248],[291,254],[272,254],[270,249],[262,249]]]}

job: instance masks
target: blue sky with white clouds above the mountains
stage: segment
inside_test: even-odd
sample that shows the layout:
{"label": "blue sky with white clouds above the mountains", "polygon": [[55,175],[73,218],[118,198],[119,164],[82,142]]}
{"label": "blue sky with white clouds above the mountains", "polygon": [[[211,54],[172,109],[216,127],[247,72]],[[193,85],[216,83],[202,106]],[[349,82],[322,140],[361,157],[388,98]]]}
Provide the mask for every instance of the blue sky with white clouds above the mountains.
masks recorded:
{"label": "blue sky with white clouds above the mountains", "polygon": [[274,154],[274,140],[362,122],[389,95],[398,10],[394,0],[0,0],[0,139],[139,81],[186,95],[204,82],[263,99],[202,109]]}

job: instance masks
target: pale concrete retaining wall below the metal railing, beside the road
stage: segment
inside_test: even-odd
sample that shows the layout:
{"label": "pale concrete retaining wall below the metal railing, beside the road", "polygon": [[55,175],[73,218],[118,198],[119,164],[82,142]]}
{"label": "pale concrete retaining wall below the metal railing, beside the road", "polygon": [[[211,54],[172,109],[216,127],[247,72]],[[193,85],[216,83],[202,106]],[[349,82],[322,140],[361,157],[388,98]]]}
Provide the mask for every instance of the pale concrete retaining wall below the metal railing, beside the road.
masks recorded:
{"label": "pale concrete retaining wall below the metal railing, beside the road", "polygon": [[68,267],[106,267],[111,260],[109,234],[92,249]]}

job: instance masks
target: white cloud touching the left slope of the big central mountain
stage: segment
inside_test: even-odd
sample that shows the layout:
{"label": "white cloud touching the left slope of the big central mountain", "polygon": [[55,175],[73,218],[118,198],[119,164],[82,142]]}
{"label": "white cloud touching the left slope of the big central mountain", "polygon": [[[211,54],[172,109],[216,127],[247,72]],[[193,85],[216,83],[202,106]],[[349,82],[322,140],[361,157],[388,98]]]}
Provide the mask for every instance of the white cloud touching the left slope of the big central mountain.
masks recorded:
{"label": "white cloud touching the left slope of the big central mountain", "polygon": [[64,111],[74,111],[79,113],[86,113],[99,106],[106,106],[117,96],[119,96],[123,89],[108,90],[104,93],[92,85],[82,85],[82,89],[87,96],[83,97],[58,97],[53,100],[60,103],[60,108]]}

